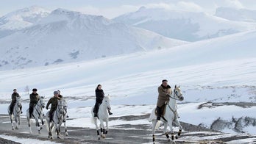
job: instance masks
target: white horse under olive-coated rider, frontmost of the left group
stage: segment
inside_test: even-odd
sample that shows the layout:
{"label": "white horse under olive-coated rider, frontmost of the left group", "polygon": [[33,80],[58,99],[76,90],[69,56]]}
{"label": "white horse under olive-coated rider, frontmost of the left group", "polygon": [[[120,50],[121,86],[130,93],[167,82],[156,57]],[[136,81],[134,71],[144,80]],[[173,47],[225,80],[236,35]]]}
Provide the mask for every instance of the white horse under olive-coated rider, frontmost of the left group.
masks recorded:
{"label": "white horse under olive-coated rider, frontmost of the left group", "polygon": [[[46,115],[49,115],[49,112],[46,113]],[[48,138],[52,139],[51,129],[54,127],[57,132],[57,138],[60,138],[60,126],[63,123],[63,99],[58,100],[58,106],[57,109],[54,110],[52,120],[50,121],[50,118],[46,117],[47,125],[48,125]]]}

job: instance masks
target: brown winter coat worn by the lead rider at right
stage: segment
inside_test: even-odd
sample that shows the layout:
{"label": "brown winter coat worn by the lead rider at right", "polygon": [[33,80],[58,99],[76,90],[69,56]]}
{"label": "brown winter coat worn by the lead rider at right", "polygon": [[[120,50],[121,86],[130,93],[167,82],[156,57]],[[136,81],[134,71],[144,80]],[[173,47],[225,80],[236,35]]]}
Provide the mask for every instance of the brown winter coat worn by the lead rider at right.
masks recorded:
{"label": "brown winter coat worn by the lead rider at right", "polygon": [[157,98],[157,106],[163,107],[166,101],[169,101],[169,97],[171,96],[171,87],[167,85],[167,87],[163,86],[163,84],[158,87],[158,98]]}

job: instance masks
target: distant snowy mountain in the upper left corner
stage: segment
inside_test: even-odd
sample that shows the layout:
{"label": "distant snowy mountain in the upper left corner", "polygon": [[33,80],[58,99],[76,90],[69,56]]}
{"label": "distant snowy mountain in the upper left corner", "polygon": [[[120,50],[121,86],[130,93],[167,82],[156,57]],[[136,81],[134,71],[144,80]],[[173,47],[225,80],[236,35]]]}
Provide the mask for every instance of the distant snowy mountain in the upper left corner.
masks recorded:
{"label": "distant snowy mountain in the upper left corner", "polygon": [[49,10],[42,7],[32,6],[2,16],[0,18],[0,38],[36,24],[49,13]]}

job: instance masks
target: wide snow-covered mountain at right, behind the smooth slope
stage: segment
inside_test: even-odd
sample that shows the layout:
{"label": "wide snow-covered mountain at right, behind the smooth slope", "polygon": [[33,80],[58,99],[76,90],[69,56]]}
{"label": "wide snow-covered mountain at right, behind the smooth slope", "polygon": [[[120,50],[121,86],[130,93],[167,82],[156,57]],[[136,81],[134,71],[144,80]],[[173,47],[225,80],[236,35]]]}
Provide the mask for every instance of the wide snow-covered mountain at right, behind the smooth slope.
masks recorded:
{"label": "wide snow-covered mountain at right, behind the smooth slope", "polygon": [[179,40],[196,41],[245,32],[255,29],[256,24],[229,21],[205,12],[166,10],[164,8],[141,7],[113,19],[124,24],[157,32]]}

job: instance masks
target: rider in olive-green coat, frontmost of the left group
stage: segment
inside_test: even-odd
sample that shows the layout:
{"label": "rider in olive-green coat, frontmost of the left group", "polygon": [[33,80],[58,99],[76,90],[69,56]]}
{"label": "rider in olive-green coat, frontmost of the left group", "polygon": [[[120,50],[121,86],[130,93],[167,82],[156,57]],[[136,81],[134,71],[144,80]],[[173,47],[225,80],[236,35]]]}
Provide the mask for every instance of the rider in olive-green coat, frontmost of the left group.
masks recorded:
{"label": "rider in olive-green coat, frontmost of the left group", "polygon": [[51,104],[51,109],[50,109],[50,112],[49,112],[49,119],[50,119],[50,122],[52,120],[52,117],[53,117],[53,112],[54,110],[57,109],[57,106],[58,106],[58,100],[60,100],[61,98],[59,97],[59,92],[58,91],[54,91],[54,96],[51,97],[48,101],[48,103],[46,104],[46,109],[48,109],[49,105]]}

